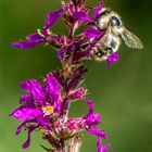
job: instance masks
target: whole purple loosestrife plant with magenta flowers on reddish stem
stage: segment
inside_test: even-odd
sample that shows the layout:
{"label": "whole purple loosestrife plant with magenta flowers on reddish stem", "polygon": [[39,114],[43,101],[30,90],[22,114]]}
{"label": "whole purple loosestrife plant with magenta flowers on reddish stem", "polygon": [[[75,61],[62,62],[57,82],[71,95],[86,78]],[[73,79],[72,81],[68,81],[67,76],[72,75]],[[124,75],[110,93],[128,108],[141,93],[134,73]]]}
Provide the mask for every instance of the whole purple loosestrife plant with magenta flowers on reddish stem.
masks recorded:
{"label": "whole purple loosestrife plant with magenta flowers on reddish stem", "polygon": [[[62,65],[61,69],[47,74],[42,84],[36,79],[20,84],[26,94],[21,97],[21,105],[10,116],[22,121],[16,135],[22,131],[23,127],[27,129],[28,136],[23,143],[23,149],[29,147],[30,135],[37,129],[42,139],[51,144],[51,148],[41,145],[48,152],[78,152],[81,131],[97,136],[98,152],[109,151],[110,144],[102,144],[102,141],[106,139],[106,134],[99,128],[101,117],[94,113],[93,102],[85,100],[87,89],[81,86],[87,73],[84,61],[94,58],[94,48],[100,47],[98,43],[102,42],[109,29],[99,28],[97,25],[103,13],[106,14],[107,10],[103,8],[102,2],[96,8],[90,8],[85,5],[85,0],[62,1],[61,9],[48,14],[42,33],[38,30],[28,35],[26,41],[12,43],[13,47],[21,49],[50,45],[56,50],[56,58]],[[59,18],[62,18],[67,27],[67,36],[56,35],[50,30]],[[111,24],[117,24],[117,21],[114,18]],[[79,27],[84,27],[84,30],[76,35],[75,31]],[[109,39],[111,40],[111,37],[106,38]],[[115,43],[112,45],[114,47]],[[106,49],[109,49],[106,52],[103,51],[103,54],[99,55],[103,55],[102,60],[111,66],[119,58],[116,51],[112,52],[110,48]],[[89,109],[88,113],[81,117],[68,117],[69,104],[78,100],[85,100]]]}

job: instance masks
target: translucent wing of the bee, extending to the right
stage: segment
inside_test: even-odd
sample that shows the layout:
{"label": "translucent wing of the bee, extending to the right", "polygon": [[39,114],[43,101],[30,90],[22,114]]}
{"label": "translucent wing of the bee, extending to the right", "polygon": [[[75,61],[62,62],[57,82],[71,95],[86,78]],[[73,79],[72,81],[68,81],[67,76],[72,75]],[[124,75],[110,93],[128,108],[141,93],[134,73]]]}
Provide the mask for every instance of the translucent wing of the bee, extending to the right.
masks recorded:
{"label": "translucent wing of the bee, extending to the right", "polygon": [[143,49],[141,40],[126,28],[122,34],[122,38],[124,39],[127,47],[132,49]]}

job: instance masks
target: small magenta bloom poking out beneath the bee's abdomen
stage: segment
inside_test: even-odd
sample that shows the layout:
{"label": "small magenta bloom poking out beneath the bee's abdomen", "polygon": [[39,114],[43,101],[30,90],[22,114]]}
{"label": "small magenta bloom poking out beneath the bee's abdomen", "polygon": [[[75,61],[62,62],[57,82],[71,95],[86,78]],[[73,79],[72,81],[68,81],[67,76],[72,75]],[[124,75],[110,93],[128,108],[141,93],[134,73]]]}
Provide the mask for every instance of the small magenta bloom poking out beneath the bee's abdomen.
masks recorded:
{"label": "small magenta bloom poking out beneath the bee's abdomen", "polygon": [[110,56],[107,56],[106,62],[107,66],[111,66],[113,62],[118,62],[119,56],[117,52],[113,52]]}

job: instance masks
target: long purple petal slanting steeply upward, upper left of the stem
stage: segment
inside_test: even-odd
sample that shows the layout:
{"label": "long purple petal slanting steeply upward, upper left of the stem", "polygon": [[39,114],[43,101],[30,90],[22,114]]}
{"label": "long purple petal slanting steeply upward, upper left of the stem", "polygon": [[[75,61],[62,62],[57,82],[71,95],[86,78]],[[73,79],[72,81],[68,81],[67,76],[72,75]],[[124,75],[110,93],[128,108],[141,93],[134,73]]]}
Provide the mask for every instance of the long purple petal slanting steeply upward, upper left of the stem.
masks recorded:
{"label": "long purple petal slanting steeply upward, upper left of the stem", "polygon": [[63,9],[60,9],[58,11],[53,11],[48,14],[47,23],[43,27],[45,35],[47,34],[47,30],[49,29],[49,27],[51,27],[55,24],[55,22],[59,20],[59,17],[61,16],[62,13],[63,13]]}

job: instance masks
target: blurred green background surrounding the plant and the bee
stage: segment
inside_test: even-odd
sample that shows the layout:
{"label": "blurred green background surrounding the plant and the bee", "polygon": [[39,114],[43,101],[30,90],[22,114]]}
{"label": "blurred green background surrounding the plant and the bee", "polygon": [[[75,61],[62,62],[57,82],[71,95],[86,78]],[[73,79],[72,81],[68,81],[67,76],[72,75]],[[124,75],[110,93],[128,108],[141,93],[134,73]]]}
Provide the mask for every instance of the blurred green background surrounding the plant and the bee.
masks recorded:
{"label": "blurred green background surrounding the plant and the bee", "polygon": [[[96,5],[99,0],[87,2]],[[87,62],[88,99],[96,101],[96,112],[102,115],[101,128],[107,131],[105,143],[111,142],[111,152],[151,152],[152,1],[105,0],[104,4],[122,15],[127,28],[142,39],[144,49],[131,50],[123,43],[121,61],[111,68],[105,63]],[[60,67],[50,47],[22,51],[10,43],[41,28],[47,13],[60,7],[60,0],[0,0],[0,152],[21,152],[26,139],[26,131],[14,135],[20,122],[8,116],[23,94],[18,83],[40,78]],[[59,23],[52,30],[64,33],[66,28]],[[71,115],[81,115],[87,110],[83,102],[77,102],[72,105]],[[40,143],[42,140],[35,132],[25,151],[42,152]],[[96,151],[96,137],[86,134],[81,152]]]}

